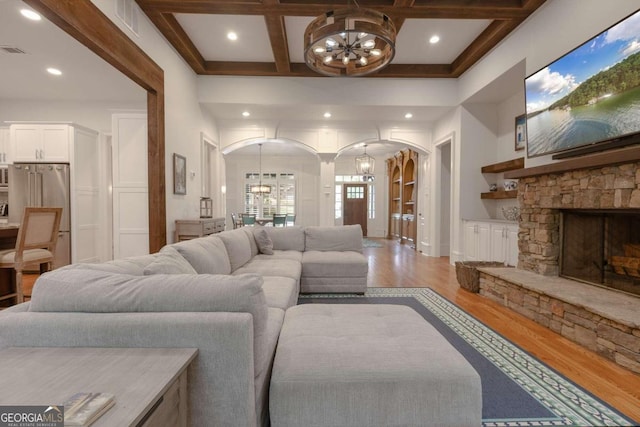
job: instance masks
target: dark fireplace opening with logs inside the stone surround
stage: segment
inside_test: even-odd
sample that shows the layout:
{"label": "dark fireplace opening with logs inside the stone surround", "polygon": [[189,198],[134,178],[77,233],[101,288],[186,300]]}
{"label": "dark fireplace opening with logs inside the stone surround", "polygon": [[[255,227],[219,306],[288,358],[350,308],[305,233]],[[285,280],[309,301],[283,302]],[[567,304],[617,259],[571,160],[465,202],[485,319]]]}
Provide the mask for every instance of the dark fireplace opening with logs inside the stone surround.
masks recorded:
{"label": "dark fireplace opening with logs inside the stone surround", "polygon": [[640,295],[640,211],[563,210],[560,275]]}

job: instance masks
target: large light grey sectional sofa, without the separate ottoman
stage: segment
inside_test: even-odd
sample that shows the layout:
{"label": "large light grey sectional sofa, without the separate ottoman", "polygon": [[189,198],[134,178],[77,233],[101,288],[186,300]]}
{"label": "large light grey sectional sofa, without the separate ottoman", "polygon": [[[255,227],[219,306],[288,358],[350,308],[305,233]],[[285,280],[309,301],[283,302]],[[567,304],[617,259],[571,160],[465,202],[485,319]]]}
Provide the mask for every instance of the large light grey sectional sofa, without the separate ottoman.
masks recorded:
{"label": "large light grey sectional sofa, without the separate ottoman", "polygon": [[0,313],[0,346],[197,347],[192,426],[266,426],[285,310],[300,292],[363,293],[360,226],[244,227],[159,253],[42,275]]}

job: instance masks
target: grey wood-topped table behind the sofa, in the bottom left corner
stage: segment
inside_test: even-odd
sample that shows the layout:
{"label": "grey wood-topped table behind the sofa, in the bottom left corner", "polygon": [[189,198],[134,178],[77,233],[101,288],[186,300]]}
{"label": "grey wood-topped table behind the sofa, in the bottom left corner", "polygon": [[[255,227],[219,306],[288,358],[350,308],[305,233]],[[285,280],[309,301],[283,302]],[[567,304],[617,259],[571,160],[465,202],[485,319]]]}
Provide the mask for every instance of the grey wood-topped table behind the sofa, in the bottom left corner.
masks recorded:
{"label": "grey wood-topped table behind the sofa, in the bottom left corner", "polygon": [[0,405],[62,405],[78,392],[115,395],[92,427],[187,426],[195,348],[12,347],[0,350]]}

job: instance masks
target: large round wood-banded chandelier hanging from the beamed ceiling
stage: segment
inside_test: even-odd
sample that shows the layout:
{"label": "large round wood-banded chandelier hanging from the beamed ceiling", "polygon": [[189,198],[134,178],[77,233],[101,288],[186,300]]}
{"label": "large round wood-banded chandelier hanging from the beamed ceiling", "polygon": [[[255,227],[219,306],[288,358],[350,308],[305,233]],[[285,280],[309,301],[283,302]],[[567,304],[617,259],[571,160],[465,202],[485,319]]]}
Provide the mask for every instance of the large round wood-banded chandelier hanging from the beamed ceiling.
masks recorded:
{"label": "large round wood-banded chandelier hanging from the beamed ceiling", "polygon": [[395,54],[396,27],[371,9],[331,10],[304,32],[305,62],[326,76],[363,76],[385,67]]}

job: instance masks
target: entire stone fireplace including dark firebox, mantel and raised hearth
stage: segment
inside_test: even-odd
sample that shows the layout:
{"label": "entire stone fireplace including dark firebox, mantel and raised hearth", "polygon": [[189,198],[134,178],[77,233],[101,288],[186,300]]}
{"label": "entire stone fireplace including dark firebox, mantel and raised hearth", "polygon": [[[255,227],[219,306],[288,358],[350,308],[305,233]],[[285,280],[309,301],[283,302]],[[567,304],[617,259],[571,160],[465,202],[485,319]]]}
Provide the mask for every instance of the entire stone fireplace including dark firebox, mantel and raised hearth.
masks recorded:
{"label": "entire stone fireplace including dark firebox, mantel and raised hearth", "polygon": [[505,178],[518,268],[481,268],[480,294],[640,374],[640,148]]}

